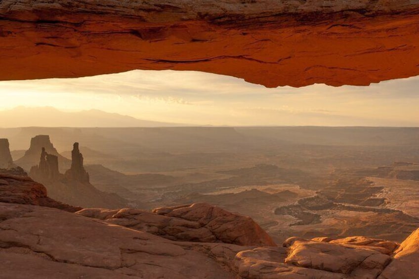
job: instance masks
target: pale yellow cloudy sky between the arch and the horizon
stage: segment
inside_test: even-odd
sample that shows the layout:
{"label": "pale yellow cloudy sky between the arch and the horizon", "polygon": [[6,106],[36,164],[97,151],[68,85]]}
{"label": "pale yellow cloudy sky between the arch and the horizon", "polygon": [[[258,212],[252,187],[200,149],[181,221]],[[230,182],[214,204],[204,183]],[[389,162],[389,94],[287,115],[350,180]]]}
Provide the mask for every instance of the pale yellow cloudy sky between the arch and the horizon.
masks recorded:
{"label": "pale yellow cloudy sky between the arch and the horizon", "polygon": [[[419,126],[419,77],[370,86],[265,88],[192,71],[130,71],[79,79],[0,81],[0,111],[101,110],[194,125]],[[34,116],[36,117],[36,116]]]}

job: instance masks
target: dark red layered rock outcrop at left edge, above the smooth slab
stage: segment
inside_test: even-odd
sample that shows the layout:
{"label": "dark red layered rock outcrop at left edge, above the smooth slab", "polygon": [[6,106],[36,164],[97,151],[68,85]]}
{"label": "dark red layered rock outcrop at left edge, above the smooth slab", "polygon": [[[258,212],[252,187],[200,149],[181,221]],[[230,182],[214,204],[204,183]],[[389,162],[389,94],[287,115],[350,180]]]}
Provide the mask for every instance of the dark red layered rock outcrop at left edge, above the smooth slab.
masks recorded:
{"label": "dark red layered rock outcrop at left edge, above the smooth slab", "polygon": [[41,205],[70,212],[81,209],[49,198],[45,187],[28,177],[22,168],[0,169],[0,202]]}

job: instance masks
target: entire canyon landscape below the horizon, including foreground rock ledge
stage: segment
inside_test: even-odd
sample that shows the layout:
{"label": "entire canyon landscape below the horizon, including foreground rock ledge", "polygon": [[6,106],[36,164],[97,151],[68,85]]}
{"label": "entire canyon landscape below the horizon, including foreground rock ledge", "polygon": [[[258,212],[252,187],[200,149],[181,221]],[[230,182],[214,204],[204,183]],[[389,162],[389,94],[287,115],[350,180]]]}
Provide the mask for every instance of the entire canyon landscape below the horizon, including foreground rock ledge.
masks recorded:
{"label": "entire canyon landscape below the horizon, including foreground rock ledge", "polygon": [[[14,150],[28,144],[28,132],[38,134],[29,150],[39,153],[31,177],[20,167],[0,170],[0,278],[64,271],[64,278],[414,278],[419,164],[409,160],[419,152],[417,129],[278,127],[258,128],[257,137],[253,129],[46,129],[52,136],[39,135],[45,128],[0,129],[14,134],[5,154],[32,158]],[[342,130],[358,145],[349,147]],[[118,144],[115,136],[125,133],[132,145]],[[232,152],[237,138],[243,146]],[[63,156],[67,169],[43,144],[71,156]],[[155,146],[164,146],[178,169],[162,164],[160,154],[159,171],[144,164],[142,173],[129,174],[142,168],[138,154],[153,163]],[[222,165],[196,160],[229,149]],[[405,160],[387,164],[395,157]],[[12,163],[19,161],[31,162]],[[23,262],[28,269],[14,270]]]}

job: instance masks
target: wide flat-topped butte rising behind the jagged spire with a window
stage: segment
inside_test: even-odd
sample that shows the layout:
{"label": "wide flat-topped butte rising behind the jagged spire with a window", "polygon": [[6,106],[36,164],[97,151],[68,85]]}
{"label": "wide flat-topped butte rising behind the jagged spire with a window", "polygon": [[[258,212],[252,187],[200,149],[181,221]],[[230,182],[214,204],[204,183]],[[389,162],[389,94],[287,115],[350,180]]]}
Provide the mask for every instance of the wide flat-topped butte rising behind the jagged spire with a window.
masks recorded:
{"label": "wide flat-topped butte rising behind the jagged spire with a window", "polygon": [[40,162],[40,154],[42,153],[42,149],[44,149],[47,154],[57,157],[58,166],[60,169],[69,164],[70,160],[58,154],[57,150],[49,140],[48,135],[38,135],[33,137],[31,139],[31,145],[25,152],[25,155],[22,158],[16,160],[15,163],[18,166],[23,167],[25,170],[30,170],[32,166],[37,165]]}

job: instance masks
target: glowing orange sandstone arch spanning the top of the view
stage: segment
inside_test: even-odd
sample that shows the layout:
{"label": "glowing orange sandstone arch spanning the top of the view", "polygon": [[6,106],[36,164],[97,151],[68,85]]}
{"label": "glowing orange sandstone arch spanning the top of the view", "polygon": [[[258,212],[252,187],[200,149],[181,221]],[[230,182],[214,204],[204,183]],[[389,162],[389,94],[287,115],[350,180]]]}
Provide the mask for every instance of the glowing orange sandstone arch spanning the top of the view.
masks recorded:
{"label": "glowing orange sandstone arch spanning the top of the view", "polygon": [[0,80],[196,70],[267,87],[419,75],[419,0],[0,0]]}

